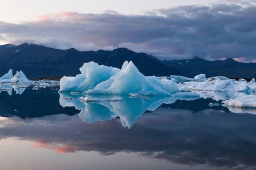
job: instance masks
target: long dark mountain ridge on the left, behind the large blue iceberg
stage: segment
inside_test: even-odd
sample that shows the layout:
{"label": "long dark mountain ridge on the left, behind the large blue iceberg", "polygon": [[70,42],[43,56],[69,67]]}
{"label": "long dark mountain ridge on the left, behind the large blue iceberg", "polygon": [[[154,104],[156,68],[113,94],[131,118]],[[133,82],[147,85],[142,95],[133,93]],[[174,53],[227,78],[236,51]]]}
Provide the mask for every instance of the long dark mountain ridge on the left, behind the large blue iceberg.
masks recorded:
{"label": "long dark mountain ridge on the left, behind the large blue iceberg", "polygon": [[83,63],[90,61],[119,69],[123,62],[133,61],[138,70],[146,76],[181,75],[179,70],[145,53],[135,53],[127,48],[80,52],[74,48],[60,50],[27,43],[17,46],[0,45],[0,76],[10,69],[22,70],[27,78],[75,76],[80,74],[79,68]]}

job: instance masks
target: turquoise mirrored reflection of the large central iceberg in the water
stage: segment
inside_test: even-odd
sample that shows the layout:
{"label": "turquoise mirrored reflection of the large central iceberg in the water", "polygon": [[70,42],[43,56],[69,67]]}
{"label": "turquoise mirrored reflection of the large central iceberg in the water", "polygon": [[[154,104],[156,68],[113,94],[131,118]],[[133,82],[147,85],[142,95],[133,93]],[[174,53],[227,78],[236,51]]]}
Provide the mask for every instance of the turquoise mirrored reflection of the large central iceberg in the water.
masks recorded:
{"label": "turquoise mirrored reflection of the large central iceberg in the water", "polygon": [[199,95],[191,92],[176,93],[171,97],[121,96],[123,100],[117,101],[111,100],[117,96],[91,96],[94,101],[84,101],[81,100],[81,97],[86,96],[84,94],[60,93],[60,105],[62,107],[75,107],[80,110],[79,117],[88,124],[119,117],[122,126],[129,129],[144,112],[155,111],[163,103],[175,103],[177,99],[199,99]]}

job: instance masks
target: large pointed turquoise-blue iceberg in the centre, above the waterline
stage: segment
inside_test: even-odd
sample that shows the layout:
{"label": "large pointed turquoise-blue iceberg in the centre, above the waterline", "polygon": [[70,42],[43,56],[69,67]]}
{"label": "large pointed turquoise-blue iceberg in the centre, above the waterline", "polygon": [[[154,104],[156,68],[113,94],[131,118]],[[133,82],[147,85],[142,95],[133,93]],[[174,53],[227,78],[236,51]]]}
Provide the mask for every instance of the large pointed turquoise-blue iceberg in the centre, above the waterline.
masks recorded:
{"label": "large pointed turquoise-blue iceberg in the centre, above the waterline", "polygon": [[171,96],[180,92],[175,82],[160,81],[155,76],[144,76],[132,61],[123,63],[122,69],[84,63],[81,74],[60,79],[59,92],[79,92],[86,95]]}

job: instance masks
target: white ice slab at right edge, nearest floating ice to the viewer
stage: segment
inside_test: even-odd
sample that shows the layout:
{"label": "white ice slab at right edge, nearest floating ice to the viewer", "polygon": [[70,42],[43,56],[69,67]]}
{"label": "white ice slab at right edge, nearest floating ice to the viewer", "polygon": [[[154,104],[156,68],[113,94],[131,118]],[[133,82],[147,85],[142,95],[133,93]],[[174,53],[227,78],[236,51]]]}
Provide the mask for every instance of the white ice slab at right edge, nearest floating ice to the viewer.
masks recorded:
{"label": "white ice slab at right edge, nearest floating ice to the viewer", "polygon": [[228,107],[256,108],[256,95],[247,95],[222,101]]}

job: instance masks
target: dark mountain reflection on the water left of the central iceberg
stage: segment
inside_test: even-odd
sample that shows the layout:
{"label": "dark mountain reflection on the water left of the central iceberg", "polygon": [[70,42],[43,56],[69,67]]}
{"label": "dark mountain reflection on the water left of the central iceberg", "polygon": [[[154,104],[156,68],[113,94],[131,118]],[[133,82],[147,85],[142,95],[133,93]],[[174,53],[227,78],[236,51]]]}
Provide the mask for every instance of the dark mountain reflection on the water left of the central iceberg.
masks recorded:
{"label": "dark mountain reflection on the water left of the central iceberg", "polygon": [[59,94],[57,90],[53,91],[51,88],[40,88],[38,91],[32,91],[30,86],[22,95],[9,95],[7,92],[1,92],[0,116],[32,118],[61,113],[74,115],[78,112],[75,108],[61,107]]}

